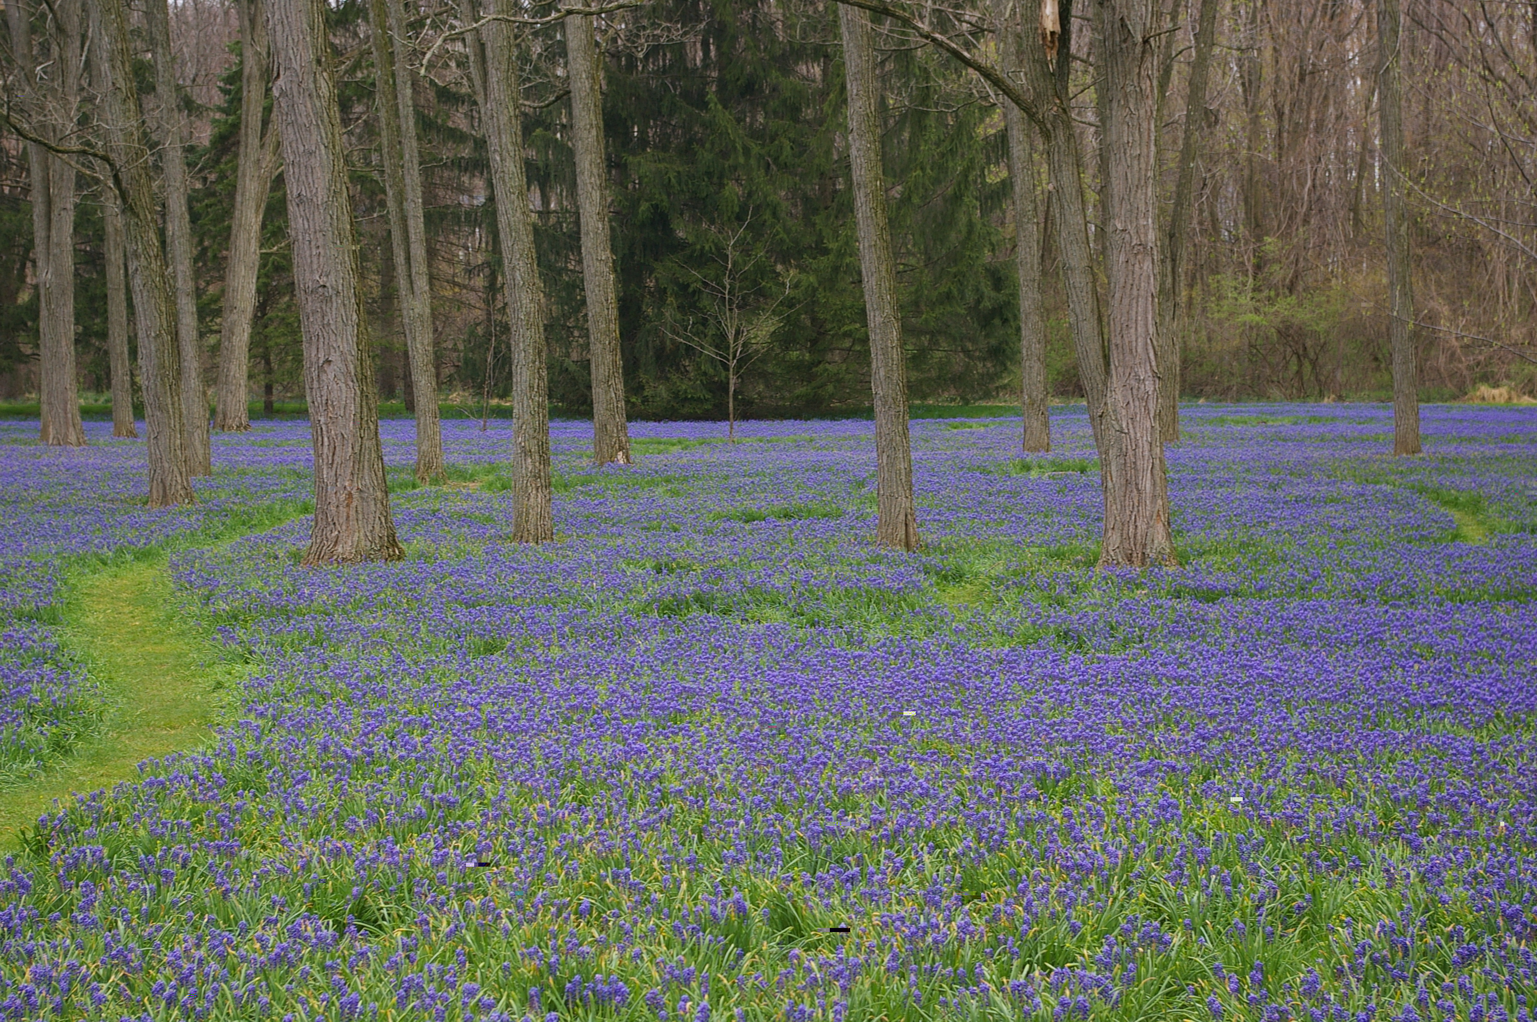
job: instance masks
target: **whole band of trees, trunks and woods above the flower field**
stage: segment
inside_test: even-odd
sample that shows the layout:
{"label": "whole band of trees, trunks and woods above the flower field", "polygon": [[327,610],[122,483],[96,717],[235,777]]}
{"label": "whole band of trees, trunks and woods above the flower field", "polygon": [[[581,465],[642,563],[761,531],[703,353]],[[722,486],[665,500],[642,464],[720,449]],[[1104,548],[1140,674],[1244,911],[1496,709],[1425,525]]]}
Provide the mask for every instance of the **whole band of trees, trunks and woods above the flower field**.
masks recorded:
{"label": "whole band of trees, trunks and woods above the flower field", "polygon": [[1391,384],[1414,453],[1423,381],[1520,384],[1534,364],[1529,8],[6,15],[0,357],[35,367],[41,438],[83,443],[77,392],[103,375],[134,429],[129,306],[155,503],[211,470],[211,395],[238,430],[254,386],[271,409],[303,381],[317,561],[398,550],[373,426],[397,393],[424,483],[443,390],[509,398],[524,541],[552,535],[552,403],[590,412],[595,458],[622,463],[629,415],[873,401],[878,536],[898,547],[919,541],[910,395],[1013,392],[1027,450],[1050,447],[1047,398],[1081,395],[1104,558],[1148,564],[1173,556],[1180,393]]}

